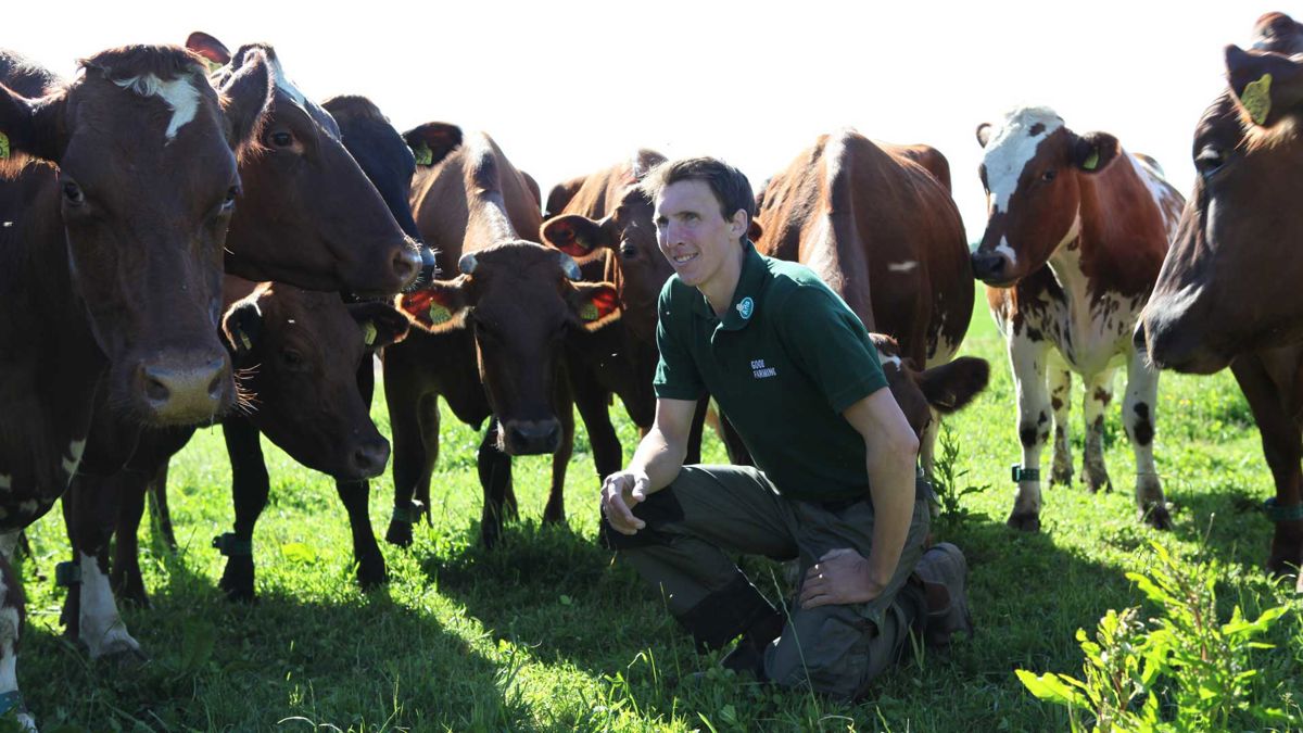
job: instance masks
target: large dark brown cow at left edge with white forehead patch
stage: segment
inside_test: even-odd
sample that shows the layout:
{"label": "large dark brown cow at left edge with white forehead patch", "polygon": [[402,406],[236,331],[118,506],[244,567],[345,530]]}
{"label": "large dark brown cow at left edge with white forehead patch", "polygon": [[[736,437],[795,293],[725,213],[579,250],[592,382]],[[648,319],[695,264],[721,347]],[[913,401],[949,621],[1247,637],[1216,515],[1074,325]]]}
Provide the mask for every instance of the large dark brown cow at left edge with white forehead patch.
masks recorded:
{"label": "large dark brown cow at left edge with white forehead patch", "polygon": [[[96,393],[132,424],[152,425],[211,420],[235,394],[216,339],[222,248],[240,193],[236,150],[271,91],[258,55],[220,98],[181,48],[133,46],[81,65],[39,99],[0,86],[13,157],[0,162],[5,707],[21,704],[13,656],[23,616],[8,554],[77,473]],[[90,575],[98,600],[108,582]]]}

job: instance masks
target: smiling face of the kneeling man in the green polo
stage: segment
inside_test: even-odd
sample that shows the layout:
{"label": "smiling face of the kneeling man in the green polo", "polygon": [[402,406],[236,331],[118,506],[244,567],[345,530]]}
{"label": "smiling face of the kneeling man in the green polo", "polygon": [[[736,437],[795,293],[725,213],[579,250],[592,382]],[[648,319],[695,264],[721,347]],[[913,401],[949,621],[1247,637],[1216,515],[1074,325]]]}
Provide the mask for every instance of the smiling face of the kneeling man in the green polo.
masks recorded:
{"label": "smiling face of the kneeling man in the green polo", "polygon": [[741,210],[724,219],[719,200],[704,181],[672,183],[655,200],[655,233],[661,253],[679,278],[696,288],[721,274],[726,258],[736,252],[745,227]]}

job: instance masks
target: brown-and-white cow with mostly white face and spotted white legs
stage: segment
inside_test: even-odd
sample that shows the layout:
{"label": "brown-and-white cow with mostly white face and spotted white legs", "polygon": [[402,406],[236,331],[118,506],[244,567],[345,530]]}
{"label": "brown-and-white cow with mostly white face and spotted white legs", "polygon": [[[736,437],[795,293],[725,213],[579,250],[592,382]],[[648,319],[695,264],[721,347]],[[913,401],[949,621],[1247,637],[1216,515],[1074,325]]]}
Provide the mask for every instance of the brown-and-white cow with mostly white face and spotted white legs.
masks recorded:
{"label": "brown-and-white cow with mostly white face and spotted white legs", "polygon": [[[1005,335],[1018,391],[1023,462],[1010,527],[1040,530],[1041,449],[1054,432],[1052,480],[1070,483],[1071,373],[1085,383],[1085,456],[1092,492],[1111,489],[1104,411],[1127,366],[1122,419],[1136,459],[1136,505],[1170,526],[1153,463],[1158,374],[1131,343],[1140,309],[1184,205],[1148,158],[1111,134],[1076,134],[1053,110],[1022,107],[977,128],[989,220],[973,252],[992,314]],[[1053,424],[1052,424],[1053,420]]]}

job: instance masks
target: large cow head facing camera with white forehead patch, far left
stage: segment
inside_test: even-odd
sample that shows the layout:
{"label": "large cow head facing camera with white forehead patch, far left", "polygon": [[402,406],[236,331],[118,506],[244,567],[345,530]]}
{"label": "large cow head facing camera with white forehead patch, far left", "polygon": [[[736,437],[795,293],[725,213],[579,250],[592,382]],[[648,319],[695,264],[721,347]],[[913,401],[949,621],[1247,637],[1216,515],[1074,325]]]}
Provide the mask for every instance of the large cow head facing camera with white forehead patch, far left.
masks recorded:
{"label": "large cow head facing camera with white forehead patch, far left", "polygon": [[66,233],[72,296],[111,364],[109,403],[143,424],[210,420],[233,396],[215,333],[236,150],[263,117],[270,68],[250,59],[219,98],[176,47],[81,67],[40,99],[0,87],[0,132],[12,151],[57,164],[42,206]]}

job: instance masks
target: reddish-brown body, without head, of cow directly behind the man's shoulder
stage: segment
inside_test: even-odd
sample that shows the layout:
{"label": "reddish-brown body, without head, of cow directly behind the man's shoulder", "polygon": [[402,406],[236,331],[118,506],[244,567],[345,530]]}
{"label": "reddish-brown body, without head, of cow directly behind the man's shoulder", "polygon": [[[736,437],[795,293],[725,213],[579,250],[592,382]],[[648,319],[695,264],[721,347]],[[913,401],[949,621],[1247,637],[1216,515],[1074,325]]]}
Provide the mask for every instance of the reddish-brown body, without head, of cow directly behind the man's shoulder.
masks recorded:
{"label": "reddish-brown body, without head, of cow directly behind the man's shoulder", "polygon": [[[907,157],[855,130],[821,136],[765,185],[756,249],[809,266],[870,331],[929,368],[959,350],[973,284],[963,222],[941,185],[949,164],[924,149]],[[928,471],[934,443],[933,424],[920,445]]]}

